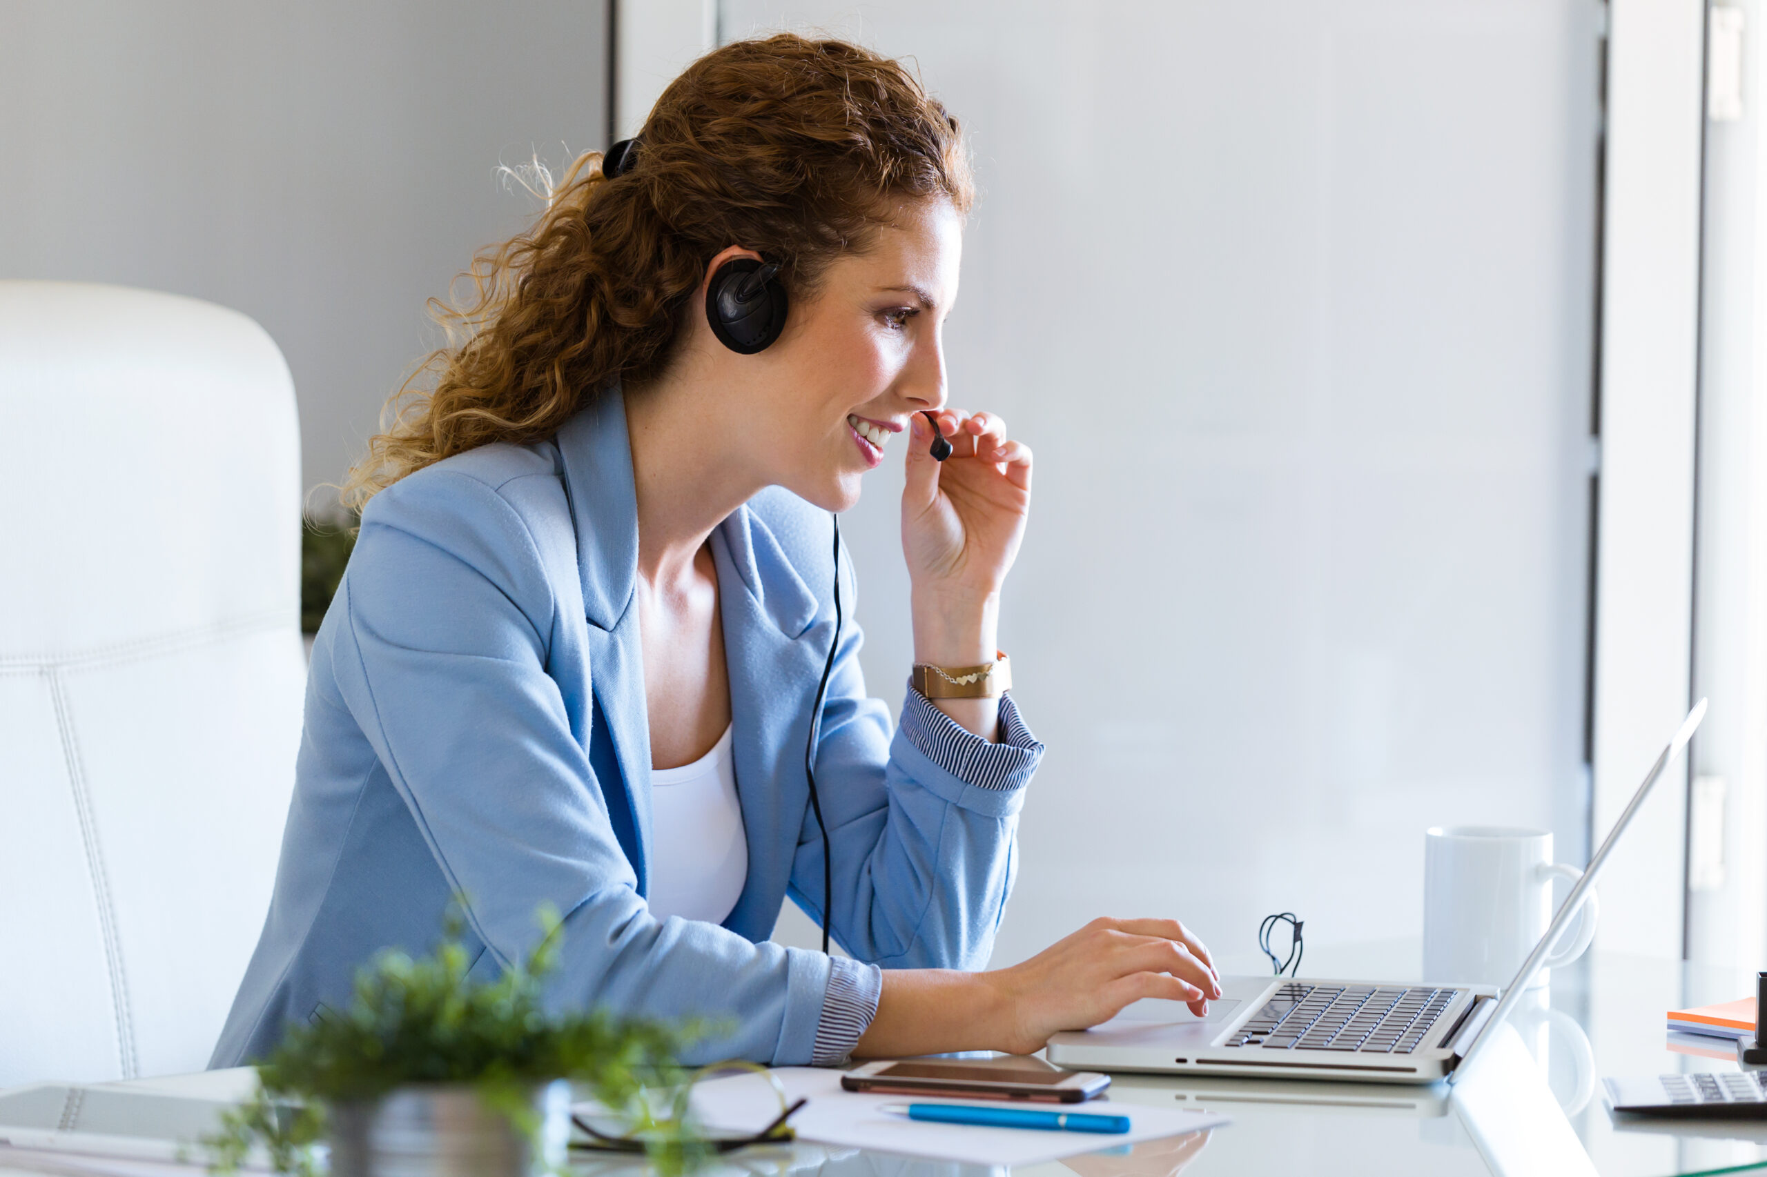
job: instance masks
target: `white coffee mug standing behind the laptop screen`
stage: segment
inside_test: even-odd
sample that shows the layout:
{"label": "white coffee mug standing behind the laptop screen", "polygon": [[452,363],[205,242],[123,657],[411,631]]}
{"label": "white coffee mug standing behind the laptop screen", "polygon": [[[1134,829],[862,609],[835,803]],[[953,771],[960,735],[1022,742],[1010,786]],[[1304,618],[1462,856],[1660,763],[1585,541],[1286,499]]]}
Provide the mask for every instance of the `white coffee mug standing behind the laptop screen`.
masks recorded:
{"label": "white coffee mug standing behind the laptop screen", "polygon": [[[1551,880],[1583,871],[1551,861],[1551,834],[1502,825],[1433,827],[1424,834],[1424,981],[1509,984],[1546,935]],[[1567,965],[1596,937],[1590,891],[1576,928],[1566,931],[1534,984]]]}

